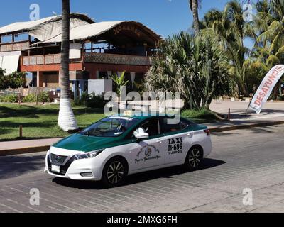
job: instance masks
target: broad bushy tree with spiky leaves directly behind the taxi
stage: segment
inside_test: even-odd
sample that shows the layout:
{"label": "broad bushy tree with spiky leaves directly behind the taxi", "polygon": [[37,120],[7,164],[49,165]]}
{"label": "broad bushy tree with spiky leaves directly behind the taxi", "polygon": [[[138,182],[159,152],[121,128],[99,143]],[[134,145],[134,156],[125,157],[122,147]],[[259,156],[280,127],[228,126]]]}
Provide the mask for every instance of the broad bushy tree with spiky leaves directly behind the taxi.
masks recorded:
{"label": "broad bushy tree with spiky leaves directly behind the taxi", "polygon": [[209,108],[214,97],[232,92],[228,57],[214,33],[193,37],[182,32],[159,48],[146,76],[147,90],[180,92],[190,109]]}

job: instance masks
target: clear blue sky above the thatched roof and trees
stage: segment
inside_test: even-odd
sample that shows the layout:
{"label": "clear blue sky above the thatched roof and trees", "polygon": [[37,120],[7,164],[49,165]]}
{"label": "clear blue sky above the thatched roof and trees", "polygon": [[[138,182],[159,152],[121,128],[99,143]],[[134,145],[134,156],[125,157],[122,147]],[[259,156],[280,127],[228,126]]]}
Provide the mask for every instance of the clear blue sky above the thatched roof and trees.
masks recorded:
{"label": "clear blue sky above the thatched roof and trees", "polygon": [[[71,11],[87,13],[95,21],[133,20],[168,37],[186,31],[192,24],[187,0],[70,0]],[[224,9],[225,0],[202,0],[200,17],[209,9]],[[60,0],[9,0],[1,2],[0,26],[28,21],[31,4],[39,4],[40,18],[60,14]]]}

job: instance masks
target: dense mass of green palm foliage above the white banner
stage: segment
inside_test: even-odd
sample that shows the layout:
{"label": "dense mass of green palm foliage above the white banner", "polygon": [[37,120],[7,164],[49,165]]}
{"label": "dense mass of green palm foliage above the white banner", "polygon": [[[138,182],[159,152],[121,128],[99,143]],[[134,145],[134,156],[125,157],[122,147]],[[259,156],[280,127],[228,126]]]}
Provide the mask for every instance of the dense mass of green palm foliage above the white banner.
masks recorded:
{"label": "dense mass of green palm foliage above the white banner", "polygon": [[[224,11],[208,11],[200,22],[202,31],[214,32],[229,57],[230,71],[239,94],[256,91],[274,65],[284,63],[284,0],[257,1],[253,21],[244,20],[240,1],[229,1]],[[201,32],[202,32],[201,31]],[[251,50],[244,40],[255,41]]]}

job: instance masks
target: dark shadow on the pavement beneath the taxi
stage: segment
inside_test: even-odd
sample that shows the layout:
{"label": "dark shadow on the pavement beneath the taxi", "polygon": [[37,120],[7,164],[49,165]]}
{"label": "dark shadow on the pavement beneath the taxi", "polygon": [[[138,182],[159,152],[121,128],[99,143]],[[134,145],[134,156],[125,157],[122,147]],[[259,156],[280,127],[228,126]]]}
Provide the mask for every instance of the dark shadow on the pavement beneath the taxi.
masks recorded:
{"label": "dark shadow on the pavement beneath the taxi", "polygon": [[[202,167],[200,167],[198,170],[195,170],[195,171],[210,169],[213,167],[217,167],[219,165],[224,165],[225,163],[226,162],[222,160],[214,160],[214,159],[207,158],[207,159],[204,159]],[[126,181],[124,182],[122,186],[146,182],[151,179],[158,179],[158,178],[170,179],[176,175],[182,175],[187,172],[190,172],[190,171],[185,170],[185,168],[182,166],[168,167],[168,168],[160,169],[160,170],[142,172],[142,173],[138,173],[136,175],[130,175],[129,177],[127,177]],[[64,186],[64,187],[72,187],[76,189],[88,189],[88,190],[105,189],[105,187],[102,185],[101,182],[73,181],[71,179],[64,179],[64,178],[55,178],[53,179],[53,182],[61,186]]]}

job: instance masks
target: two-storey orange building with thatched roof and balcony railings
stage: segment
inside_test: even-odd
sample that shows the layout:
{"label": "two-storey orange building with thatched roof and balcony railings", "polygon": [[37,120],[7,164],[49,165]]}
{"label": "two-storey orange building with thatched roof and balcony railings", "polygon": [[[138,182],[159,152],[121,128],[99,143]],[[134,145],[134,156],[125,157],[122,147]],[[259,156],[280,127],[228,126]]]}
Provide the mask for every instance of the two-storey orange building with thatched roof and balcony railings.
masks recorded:
{"label": "two-storey orange building with thatched roof and balcony railings", "polygon": [[[160,35],[136,21],[95,23],[72,13],[70,82],[75,97],[87,90],[89,80],[108,79],[114,73],[125,71],[130,82],[141,81],[159,40]],[[7,74],[30,72],[32,87],[60,87],[60,49],[61,16],[0,28],[0,67]]]}

